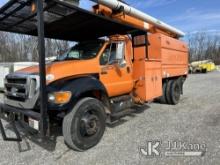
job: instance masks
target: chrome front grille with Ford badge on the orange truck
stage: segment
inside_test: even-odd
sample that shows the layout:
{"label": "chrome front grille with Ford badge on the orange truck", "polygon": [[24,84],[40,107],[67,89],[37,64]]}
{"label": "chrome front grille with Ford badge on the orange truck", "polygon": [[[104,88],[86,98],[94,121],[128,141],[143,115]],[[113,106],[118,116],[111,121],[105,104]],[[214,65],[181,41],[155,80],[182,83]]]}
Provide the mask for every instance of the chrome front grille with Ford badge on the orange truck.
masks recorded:
{"label": "chrome front grille with Ford badge on the orange truck", "polygon": [[25,102],[35,94],[36,82],[36,78],[28,75],[8,75],[5,79],[5,96],[10,100]]}

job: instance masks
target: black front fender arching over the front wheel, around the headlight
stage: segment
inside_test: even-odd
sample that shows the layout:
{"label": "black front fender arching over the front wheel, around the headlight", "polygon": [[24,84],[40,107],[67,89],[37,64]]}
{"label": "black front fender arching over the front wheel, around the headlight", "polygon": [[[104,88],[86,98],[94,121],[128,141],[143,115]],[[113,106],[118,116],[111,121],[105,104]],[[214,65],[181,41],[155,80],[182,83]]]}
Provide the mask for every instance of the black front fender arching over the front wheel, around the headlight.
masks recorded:
{"label": "black front fender arching over the front wheel, around the headlight", "polygon": [[98,91],[105,101],[108,98],[108,93],[101,81],[93,76],[77,77],[70,80],[60,80],[48,86],[47,92],[52,93],[56,91],[71,91],[72,97],[69,103],[64,105],[56,105],[49,103],[49,110],[69,110],[74,104],[85,94],[93,91]]}

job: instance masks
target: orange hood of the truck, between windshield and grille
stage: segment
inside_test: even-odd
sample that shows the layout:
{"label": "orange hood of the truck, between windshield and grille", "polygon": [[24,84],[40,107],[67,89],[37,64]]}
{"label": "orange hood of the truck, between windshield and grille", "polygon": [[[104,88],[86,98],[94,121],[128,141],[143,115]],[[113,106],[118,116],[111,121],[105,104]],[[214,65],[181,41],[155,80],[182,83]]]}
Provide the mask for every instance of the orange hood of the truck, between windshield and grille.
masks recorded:
{"label": "orange hood of the truck, between windshield and grille", "polygon": [[[47,81],[47,83],[54,82],[66,77],[72,77],[76,75],[99,73],[98,60],[80,60],[80,61],[61,61],[53,62],[46,65],[46,74],[52,75],[53,80]],[[32,66],[17,71],[17,73],[25,74],[38,74],[39,67]]]}

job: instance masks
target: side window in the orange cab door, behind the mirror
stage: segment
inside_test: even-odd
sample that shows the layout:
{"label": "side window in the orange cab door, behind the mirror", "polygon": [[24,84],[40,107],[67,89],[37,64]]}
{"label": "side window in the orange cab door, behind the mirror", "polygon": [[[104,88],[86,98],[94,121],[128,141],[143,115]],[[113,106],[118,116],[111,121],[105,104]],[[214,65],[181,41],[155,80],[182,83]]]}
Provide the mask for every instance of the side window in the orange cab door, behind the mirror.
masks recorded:
{"label": "side window in the orange cab door, behind the mirror", "polygon": [[111,43],[107,45],[105,51],[100,58],[101,65],[112,65],[115,63],[120,63],[124,60],[125,53],[125,43]]}

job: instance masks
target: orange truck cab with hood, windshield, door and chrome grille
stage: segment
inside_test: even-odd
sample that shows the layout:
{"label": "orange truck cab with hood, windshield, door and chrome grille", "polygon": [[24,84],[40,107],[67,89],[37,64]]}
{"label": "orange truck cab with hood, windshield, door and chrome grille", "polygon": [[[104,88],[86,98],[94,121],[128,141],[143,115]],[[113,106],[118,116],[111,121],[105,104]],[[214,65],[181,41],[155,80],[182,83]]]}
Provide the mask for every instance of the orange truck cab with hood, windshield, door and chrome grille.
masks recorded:
{"label": "orange truck cab with hood, windshield, door and chrome grille", "polygon": [[[134,86],[131,51],[131,41],[126,36],[114,36],[106,41],[78,43],[47,64],[48,90],[53,88],[56,91],[66,85],[62,84],[63,82],[87,78],[96,79],[108,97],[129,94]],[[38,73],[38,66],[33,66],[7,75],[5,102],[11,106],[34,108],[38,100],[38,92],[33,92],[39,90]],[[25,78],[31,80],[26,81]],[[27,86],[34,87],[28,87],[29,90],[23,89]],[[52,95],[52,91],[48,93],[49,96]],[[33,99],[32,101],[20,98],[28,92],[31,93],[29,99]]]}

